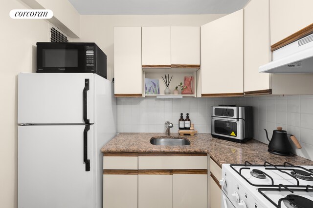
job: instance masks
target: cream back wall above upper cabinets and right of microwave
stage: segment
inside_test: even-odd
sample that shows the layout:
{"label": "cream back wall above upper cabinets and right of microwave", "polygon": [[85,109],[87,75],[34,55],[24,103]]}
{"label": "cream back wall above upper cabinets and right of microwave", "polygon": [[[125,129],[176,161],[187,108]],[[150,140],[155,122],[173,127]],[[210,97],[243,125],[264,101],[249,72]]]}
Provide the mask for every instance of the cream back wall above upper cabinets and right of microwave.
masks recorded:
{"label": "cream back wall above upper cabinets and right of microwave", "polygon": [[108,57],[108,79],[114,68],[114,27],[122,26],[201,26],[224,15],[83,15],[80,41],[95,42]]}

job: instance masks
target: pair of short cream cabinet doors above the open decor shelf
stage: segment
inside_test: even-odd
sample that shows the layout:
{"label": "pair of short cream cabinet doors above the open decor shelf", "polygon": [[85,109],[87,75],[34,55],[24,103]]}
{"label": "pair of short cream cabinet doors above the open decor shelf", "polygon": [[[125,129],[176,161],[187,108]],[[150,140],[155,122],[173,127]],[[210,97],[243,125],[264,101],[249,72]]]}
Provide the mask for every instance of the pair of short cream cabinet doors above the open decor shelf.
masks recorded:
{"label": "pair of short cream cabinet doors above the open decor shelf", "polygon": [[142,27],[143,68],[198,68],[200,27]]}

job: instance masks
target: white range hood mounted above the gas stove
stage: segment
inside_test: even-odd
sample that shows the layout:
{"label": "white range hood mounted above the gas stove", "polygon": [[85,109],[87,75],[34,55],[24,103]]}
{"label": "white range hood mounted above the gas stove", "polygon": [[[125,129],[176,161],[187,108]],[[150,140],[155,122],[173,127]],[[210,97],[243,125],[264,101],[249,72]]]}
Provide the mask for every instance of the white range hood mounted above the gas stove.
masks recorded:
{"label": "white range hood mounted above the gas stove", "polygon": [[313,34],[273,51],[273,61],[260,66],[259,72],[273,74],[313,73]]}

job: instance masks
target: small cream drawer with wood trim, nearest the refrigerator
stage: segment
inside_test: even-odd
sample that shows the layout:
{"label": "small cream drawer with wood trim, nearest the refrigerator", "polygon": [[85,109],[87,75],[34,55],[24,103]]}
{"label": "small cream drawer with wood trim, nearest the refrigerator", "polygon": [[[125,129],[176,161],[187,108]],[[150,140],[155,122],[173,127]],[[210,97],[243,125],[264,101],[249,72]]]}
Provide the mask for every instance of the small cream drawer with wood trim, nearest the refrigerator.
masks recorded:
{"label": "small cream drawer with wood trim, nearest the refrigerator", "polygon": [[103,153],[103,170],[138,170],[138,153]]}

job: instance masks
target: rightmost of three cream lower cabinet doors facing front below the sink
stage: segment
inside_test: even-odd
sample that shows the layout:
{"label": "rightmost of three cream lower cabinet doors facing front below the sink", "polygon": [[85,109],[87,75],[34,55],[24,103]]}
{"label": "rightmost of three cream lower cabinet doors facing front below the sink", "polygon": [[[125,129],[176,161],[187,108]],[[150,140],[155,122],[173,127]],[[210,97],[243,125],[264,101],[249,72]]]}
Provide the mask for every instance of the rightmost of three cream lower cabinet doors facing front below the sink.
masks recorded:
{"label": "rightmost of three cream lower cabinet doors facing front below the sink", "polygon": [[173,173],[173,208],[208,207],[207,174]]}

